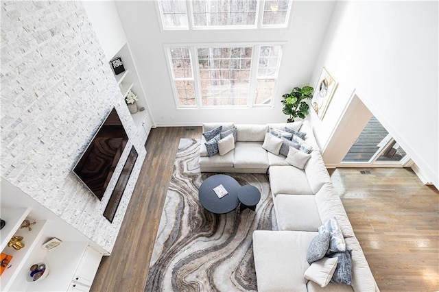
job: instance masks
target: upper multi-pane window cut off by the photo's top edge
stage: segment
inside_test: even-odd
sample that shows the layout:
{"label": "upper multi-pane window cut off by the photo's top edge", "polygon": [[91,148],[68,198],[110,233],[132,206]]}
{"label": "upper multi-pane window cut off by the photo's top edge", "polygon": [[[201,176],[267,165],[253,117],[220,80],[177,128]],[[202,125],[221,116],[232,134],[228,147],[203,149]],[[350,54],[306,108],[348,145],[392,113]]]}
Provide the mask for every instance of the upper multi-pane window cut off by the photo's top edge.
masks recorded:
{"label": "upper multi-pane window cut off by the photo's top edge", "polygon": [[163,29],[286,27],[291,0],[158,0]]}

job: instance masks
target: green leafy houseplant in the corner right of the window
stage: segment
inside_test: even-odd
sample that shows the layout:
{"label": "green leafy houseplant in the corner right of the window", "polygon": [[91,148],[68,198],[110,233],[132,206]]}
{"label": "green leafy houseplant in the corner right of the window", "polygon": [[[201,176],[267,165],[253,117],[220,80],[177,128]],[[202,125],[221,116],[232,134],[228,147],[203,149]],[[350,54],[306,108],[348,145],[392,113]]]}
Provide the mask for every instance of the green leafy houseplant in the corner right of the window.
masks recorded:
{"label": "green leafy houseplant in the corner right of the window", "polygon": [[313,91],[314,88],[311,86],[294,87],[291,93],[282,95],[282,112],[289,116],[288,123],[293,122],[295,118],[305,119],[309,114],[309,105],[306,100],[313,97]]}

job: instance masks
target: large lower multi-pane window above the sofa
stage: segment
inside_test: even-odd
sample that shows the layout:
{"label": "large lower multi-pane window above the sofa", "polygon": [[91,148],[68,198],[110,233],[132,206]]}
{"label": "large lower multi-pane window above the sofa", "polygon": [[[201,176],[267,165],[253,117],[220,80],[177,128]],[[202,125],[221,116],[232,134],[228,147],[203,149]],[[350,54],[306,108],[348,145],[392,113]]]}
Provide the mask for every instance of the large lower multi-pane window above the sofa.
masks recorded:
{"label": "large lower multi-pane window above the sofa", "polygon": [[271,106],[281,45],[167,51],[178,107]]}

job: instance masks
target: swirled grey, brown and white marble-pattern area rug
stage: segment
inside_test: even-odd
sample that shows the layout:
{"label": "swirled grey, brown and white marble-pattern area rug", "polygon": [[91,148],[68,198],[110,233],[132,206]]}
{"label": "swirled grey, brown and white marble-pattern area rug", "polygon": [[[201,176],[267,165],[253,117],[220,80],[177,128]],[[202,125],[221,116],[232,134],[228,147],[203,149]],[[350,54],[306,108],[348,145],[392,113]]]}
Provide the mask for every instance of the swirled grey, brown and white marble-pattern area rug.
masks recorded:
{"label": "swirled grey, brown and white marble-pattern area rug", "polygon": [[215,215],[198,202],[200,140],[182,138],[158,228],[145,291],[255,291],[254,230],[276,229],[266,174],[230,173],[261,191],[256,212]]}

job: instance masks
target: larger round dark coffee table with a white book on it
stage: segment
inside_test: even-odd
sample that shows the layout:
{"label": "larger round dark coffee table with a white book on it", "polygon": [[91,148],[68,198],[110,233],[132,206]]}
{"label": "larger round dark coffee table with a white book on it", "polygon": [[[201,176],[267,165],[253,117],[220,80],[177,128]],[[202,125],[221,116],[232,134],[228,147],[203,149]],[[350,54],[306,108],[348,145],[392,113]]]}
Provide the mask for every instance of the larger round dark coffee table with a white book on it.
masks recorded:
{"label": "larger round dark coffee table with a white book on it", "polygon": [[[222,184],[228,192],[221,199],[213,191],[213,188],[219,186],[219,184]],[[239,205],[238,193],[240,188],[241,186],[234,178],[224,174],[216,174],[202,182],[198,197],[202,206],[209,212],[226,214],[235,210]]]}

